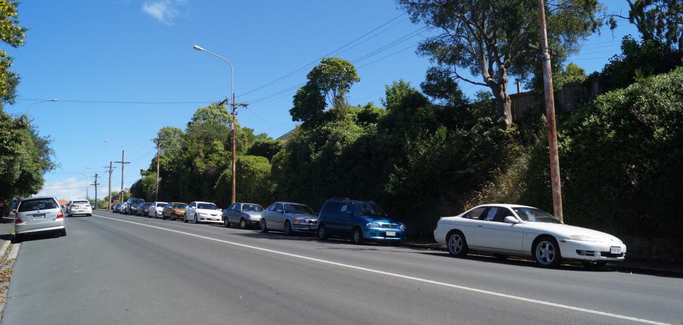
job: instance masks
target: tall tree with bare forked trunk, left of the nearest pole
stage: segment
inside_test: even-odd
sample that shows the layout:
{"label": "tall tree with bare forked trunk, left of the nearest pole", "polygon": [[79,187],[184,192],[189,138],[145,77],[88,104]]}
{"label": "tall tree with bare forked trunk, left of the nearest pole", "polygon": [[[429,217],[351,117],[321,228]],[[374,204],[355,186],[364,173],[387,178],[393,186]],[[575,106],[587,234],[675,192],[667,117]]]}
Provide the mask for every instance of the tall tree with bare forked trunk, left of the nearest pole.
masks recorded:
{"label": "tall tree with bare forked trunk, left of the nearest pole", "polygon": [[[398,0],[414,23],[422,21],[440,31],[419,45],[436,66],[428,76],[461,80],[488,87],[496,100],[498,116],[512,125],[509,77],[528,80],[540,65],[529,44],[539,43],[536,1],[528,0]],[[554,60],[576,50],[578,41],[598,28],[596,0],[547,1],[547,30]],[[458,68],[469,69],[481,81],[467,78]],[[428,78],[427,85],[430,85]],[[445,83],[448,85],[448,83]]]}

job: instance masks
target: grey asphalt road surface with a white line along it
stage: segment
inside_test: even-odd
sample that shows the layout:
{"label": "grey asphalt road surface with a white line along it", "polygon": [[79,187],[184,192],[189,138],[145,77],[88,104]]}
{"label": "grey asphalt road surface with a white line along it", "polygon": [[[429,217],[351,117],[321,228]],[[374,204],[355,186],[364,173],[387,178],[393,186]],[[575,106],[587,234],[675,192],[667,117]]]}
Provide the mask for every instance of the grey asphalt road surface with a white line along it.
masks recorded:
{"label": "grey asphalt road surface with a white line along it", "polygon": [[95,215],[21,244],[1,324],[683,324],[675,277]]}

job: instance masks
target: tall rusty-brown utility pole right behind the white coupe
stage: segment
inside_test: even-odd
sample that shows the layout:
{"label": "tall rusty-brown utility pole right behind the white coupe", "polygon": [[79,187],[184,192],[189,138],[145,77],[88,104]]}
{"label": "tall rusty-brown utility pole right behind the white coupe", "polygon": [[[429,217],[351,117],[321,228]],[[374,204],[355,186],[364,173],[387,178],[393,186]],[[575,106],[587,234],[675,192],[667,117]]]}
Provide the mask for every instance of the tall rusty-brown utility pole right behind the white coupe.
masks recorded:
{"label": "tall rusty-brown utility pole right behind the white coupe", "polygon": [[553,211],[560,221],[562,216],[562,189],[560,185],[560,158],[557,153],[557,129],[555,126],[555,98],[553,94],[553,76],[550,66],[550,52],[548,50],[548,34],[545,29],[545,4],[538,0],[540,13],[541,54],[543,55],[543,88],[545,89],[545,118],[548,128],[548,148],[550,156],[550,177],[553,194]]}

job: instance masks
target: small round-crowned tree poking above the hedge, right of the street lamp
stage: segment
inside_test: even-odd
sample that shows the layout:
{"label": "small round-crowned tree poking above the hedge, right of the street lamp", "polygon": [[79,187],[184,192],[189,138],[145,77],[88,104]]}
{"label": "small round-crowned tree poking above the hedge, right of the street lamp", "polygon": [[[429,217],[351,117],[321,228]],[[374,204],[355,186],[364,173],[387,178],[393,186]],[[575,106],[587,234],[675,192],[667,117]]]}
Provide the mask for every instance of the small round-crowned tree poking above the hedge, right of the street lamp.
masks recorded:
{"label": "small round-crowned tree poking above the hedge, right of the street lamp", "polygon": [[346,93],[360,81],[356,68],[339,58],[322,59],[306,78],[306,85],[297,90],[289,110],[292,120],[304,123],[315,123],[328,105],[346,106]]}

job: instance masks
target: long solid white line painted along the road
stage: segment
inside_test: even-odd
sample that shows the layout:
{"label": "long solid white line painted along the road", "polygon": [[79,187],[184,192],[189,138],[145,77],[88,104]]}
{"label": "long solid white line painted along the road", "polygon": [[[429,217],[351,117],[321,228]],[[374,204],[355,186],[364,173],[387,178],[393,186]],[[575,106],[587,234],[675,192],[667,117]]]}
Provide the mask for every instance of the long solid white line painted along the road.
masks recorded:
{"label": "long solid white line painted along the road", "polygon": [[655,322],[655,321],[652,321],[652,320],[642,319],[642,318],[638,318],[638,317],[630,317],[630,316],[624,316],[624,315],[619,315],[619,314],[607,313],[607,312],[605,312],[605,311],[595,311],[595,310],[593,310],[593,309],[580,308],[580,307],[575,307],[575,306],[568,306],[568,305],[564,305],[564,304],[556,304],[556,303],[554,303],[554,302],[544,302],[544,301],[542,301],[542,300],[534,300],[534,299],[529,299],[529,298],[525,298],[525,297],[518,297],[518,296],[516,296],[516,295],[507,295],[507,294],[505,294],[505,293],[497,293],[497,292],[494,292],[494,291],[487,291],[487,290],[482,290],[482,289],[476,289],[476,288],[471,288],[471,287],[469,287],[469,286],[459,286],[459,285],[457,285],[457,284],[450,284],[450,283],[445,283],[445,282],[439,282],[439,281],[434,281],[434,280],[428,280],[428,279],[423,279],[423,278],[421,278],[421,277],[412,277],[412,276],[410,276],[410,275],[402,275],[402,274],[398,274],[398,273],[391,273],[391,272],[379,271],[379,270],[375,270],[375,269],[368,269],[368,268],[362,267],[362,266],[355,266],[355,265],[343,264],[343,263],[333,262],[333,261],[328,261],[328,260],[321,260],[321,259],[319,259],[319,258],[310,258],[310,257],[304,256],[304,255],[297,255],[297,254],[292,254],[292,253],[286,253],[286,252],[284,252],[284,251],[275,251],[275,250],[273,250],[273,249],[264,249],[264,248],[262,248],[262,247],[256,247],[256,246],[251,246],[251,245],[247,245],[247,244],[240,244],[240,243],[238,243],[238,242],[230,242],[230,241],[228,241],[228,240],[220,240],[220,239],[211,238],[211,237],[206,237],[206,236],[202,236],[202,235],[196,235],[196,234],[194,234],[194,233],[186,233],[185,231],[178,231],[178,230],[174,230],[174,229],[167,229],[167,228],[164,228],[164,227],[156,227],[156,226],[152,226],[152,225],[150,225],[150,224],[142,224],[142,223],[140,223],[140,222],[132,222],[132,221],[128,221],[128,220],[120,220],[120,219],[116,219],[116,218],[110,218],[110,217],[105,217],[105,216],[98,216],[98,215],[95,215],[95,214],[94,214],[93,216],[96,216],[96,217],[99,217],[99,218],[105,218],[105,219],[109,219],[109,220],[116,220],[116,221],[120,221],[120,222],[128,222],[128,223],[131,223],[131,224],[138,224],[138,225],[140,225],[140,226],[149,227],[149,228],[154,228],[154,229],[160,229],[160,230],[165,230],[165,231],[171,231],[171,232],[174,232],[174,233],[182,233],[183,235],[189,235],[189,236],[192,236],[192,237],[202,238],[202,239],[205,239],[205,240],[213,240],[214,242],[222,242],[222,243],[224,243],[224,244],[231,244],[231,245],[234,245],[234,246],[244,247],[244,248],[248,248],[248,249],[255,249],[255,250],[257,250],[257,251],[265,251],[265,252],[269,252],[269,253],[275,253],[275,254],[279,254],[279,255],[290,256],[290,257],[292,257],[292,258],[300,258],[300,259],[302,259],[302,260],[309,260],[309,261],[313,261],[313,262],[319,262],[319,263],[324,263],[324,264],[330,264],[330,265],[340,266],[340,267],[344,267],[344,268],[347,268],[347,269],[355,269],[355,270],[359,270],[359,271],[366,271],[366,272],[369,272],[369,273],[387,275],[387,276],[390,276],[390,277],[399,277],[399,278],[401,278],[401,279],[406,279],[406,280],[413,280],[413,281],[417,281],[417,282],[423,282],[423,283],[428,283],[428,284],[435,284],[435,285],[437,285],[437,286],[446,286],[446,287],[449,287],[449,288],[460,289],[460,290],[464,290],[464,291],[471,291],[471,292],[476,292],[476,293],[482,293],[482,294],[484,294],[484,295],[494,295],[494,296],[496,296],[496,297],[503,297],[503,298],[508,298],[508,299],[512,299],[512,300],[519,300],[519,301],[523,301],[523,302],[531,302],[531,303],[533,303],[533,304],[541,304],[541,305],[544,305],[544,306],[552,306],[552,307],[557,307],[557,308],[564,308],[564,309],[569,309],[570,311],[580,311],[580,312],[583,312],[583,313],[589,313],[589,314],[594,314],[594,315],[602,315],[602,316],[613,317],[613,318],[617,318],[617,319],[630,320],[630,321],[633,321],[633,322],[639,322],[639,323],[643,323],[643,324],[672,325],[672,324],[669,324],[669,323]]}

